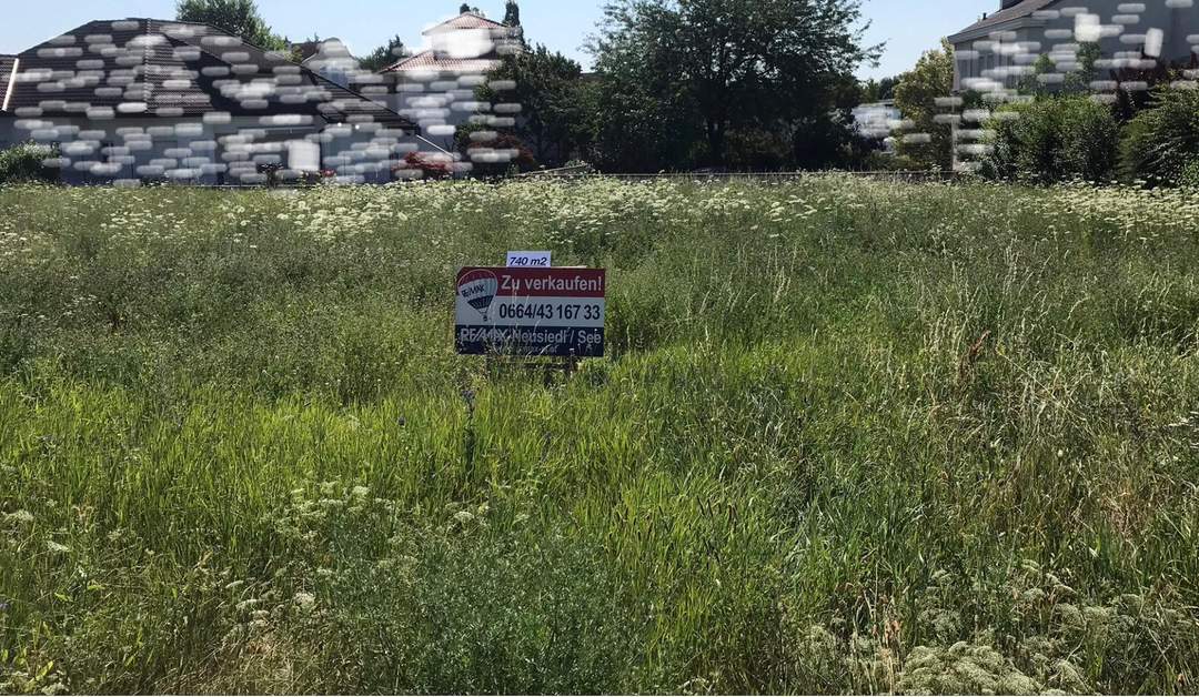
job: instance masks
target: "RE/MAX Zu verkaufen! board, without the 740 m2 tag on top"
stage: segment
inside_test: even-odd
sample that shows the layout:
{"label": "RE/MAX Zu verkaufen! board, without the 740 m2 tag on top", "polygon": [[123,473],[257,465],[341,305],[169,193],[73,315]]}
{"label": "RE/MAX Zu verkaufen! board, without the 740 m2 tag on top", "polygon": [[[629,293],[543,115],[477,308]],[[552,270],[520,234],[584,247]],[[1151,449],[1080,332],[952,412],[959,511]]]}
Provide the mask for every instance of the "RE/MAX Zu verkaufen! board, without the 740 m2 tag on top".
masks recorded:
{"label": "RE/MAX Zu verkaufen! board, without the 740 m2 tag on top", "polygon": [[603,355],[603,269],[468,268],[457,288],[460,354]]}

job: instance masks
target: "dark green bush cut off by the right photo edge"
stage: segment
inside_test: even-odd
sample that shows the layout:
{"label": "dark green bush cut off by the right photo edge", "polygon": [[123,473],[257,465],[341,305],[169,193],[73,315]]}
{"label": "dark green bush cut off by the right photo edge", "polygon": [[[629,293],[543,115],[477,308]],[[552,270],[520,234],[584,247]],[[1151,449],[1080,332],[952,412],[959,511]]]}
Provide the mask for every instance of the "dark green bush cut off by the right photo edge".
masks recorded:
{"label": "dark green bush cut off by the right photo edge", "polygon": [[1120,169],[1156,185],[1199,184],[1199,91],[1162,88],[1125,131]]}

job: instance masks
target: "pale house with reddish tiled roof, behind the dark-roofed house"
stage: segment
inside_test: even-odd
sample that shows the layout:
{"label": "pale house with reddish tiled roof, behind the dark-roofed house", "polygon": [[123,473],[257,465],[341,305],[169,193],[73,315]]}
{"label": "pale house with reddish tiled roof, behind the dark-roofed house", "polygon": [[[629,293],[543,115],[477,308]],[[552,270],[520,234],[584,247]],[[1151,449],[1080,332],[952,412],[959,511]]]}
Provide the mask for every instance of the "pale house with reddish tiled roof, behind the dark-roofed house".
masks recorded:
{"label": "pale house with reddish tiled roof, behind the dark-roofed house", "polygon": [[[454,133],[468,122],[510,127],[514,115],[493,113],[475,89],[505,55],[524,50],[519,26],[465,11],[423,32],[428,46],[355,84],[362,94],[416,122],[426,137],[456,150]],[[500,85],[502,86],[502,85]]]}

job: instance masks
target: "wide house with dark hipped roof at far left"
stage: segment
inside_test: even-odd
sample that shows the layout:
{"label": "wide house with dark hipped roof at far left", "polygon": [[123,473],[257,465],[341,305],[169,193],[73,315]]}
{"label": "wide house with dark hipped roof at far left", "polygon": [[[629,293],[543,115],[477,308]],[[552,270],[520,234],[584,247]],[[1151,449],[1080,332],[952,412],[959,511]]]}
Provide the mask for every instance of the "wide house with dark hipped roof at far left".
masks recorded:
{"label": "wide house with dark hipped roof at far left", "polygon": [[213,26],[97,20],[0,59],[0,146],[54,146],[73,184],[390,181],[409,119]]}

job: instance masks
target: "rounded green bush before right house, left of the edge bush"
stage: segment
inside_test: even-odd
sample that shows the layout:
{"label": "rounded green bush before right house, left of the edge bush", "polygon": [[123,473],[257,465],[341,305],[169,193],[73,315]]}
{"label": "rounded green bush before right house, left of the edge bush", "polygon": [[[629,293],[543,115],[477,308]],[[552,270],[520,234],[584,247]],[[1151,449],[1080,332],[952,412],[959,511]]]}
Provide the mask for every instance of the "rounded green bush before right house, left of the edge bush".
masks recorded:
{"label": "rounded green bush before right house, left of the edge bush", "polygon": [[1049,97],[1002,107],[988,124],[982,174],[1028,184],[1110,181],[1119,126],[1111,109],[1089,97]]}

